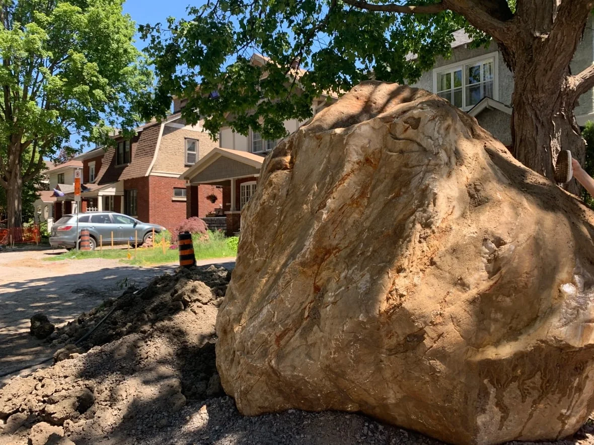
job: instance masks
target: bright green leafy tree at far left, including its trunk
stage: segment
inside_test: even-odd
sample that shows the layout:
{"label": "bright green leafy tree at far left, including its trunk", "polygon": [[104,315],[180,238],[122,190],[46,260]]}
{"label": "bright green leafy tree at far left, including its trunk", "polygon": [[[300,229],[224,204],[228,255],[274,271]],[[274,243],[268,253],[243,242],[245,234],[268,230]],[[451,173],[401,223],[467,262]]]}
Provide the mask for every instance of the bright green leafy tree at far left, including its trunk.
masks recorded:
{"label": "bright green leafy tree at far left, including its trunk", "polygon": [[130,134],[140,122],[135,104],[148,100],[152,74],[135,31],[122,0],[0,0],[0,186],[10,218],[22,182],[71,135],[108,143],[112,128]]}

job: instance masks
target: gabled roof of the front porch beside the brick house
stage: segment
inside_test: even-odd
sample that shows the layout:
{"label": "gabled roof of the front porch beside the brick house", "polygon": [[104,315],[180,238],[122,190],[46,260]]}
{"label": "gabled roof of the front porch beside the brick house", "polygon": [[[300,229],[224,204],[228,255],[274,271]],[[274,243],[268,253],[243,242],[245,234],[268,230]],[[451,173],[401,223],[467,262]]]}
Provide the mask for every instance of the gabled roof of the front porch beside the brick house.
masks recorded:
{"label": "gabled roof of the front porch beside the brick house", "polygon": [[258,176],[264,157],[228,148],[214,148],[186,170],[179,179],[191,185],[210,184],[229,186],[232,179]]}

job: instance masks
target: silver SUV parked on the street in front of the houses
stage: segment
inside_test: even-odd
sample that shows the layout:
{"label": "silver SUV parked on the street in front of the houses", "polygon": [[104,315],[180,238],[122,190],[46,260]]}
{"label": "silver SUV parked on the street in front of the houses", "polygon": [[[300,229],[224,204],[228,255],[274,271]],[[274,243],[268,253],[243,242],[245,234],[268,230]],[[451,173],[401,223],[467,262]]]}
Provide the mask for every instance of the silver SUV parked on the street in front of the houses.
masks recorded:
{"label": "silver SUV parked on the street in front of the houses", "polygon": [[[78,216],[78,234],[77,234]],[[86,228],[89,230],[91,250],[99,244],[100,236],[103,237],[103,245],[109,246],[113,236],[113,244],[126,244],[128,241],[134,246],[135,240],[138,244],[153,236],[155,233],[166,230],[159,224],[140,222],[128,215],[115,212],[91,212],[78,215],[64,215],[52,225],[49,244],[55,247],[66,247],[74,249],[80,240],[80,231]]]}

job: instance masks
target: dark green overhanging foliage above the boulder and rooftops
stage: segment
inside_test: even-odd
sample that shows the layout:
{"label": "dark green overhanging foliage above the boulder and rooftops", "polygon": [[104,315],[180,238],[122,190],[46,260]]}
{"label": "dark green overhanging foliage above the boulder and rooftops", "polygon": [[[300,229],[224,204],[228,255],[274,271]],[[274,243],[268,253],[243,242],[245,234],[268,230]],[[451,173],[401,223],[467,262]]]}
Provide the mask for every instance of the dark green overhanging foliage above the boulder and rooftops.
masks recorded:
{"label": "dark green overhanging foliage above the boulder and rooftops", "polygon": [[[340,94],[369,78],[418,80],[437,56],[451,55],[453,31],[465,28],[475,45],[488,41],[456,12],[394,14],[356,3],[208,1],[189,8],[188,20],[141,26],[159,77],[146,115],[165,115],[171,95],[182,96],[188,98],[184,117],[196,122],[194,110],[200,110],[212,135],[233,116],[235,131],[247,134],[252,128],[276,138],[285,133],[283,120],[310,117],[312,99],[322,93]],[[254,66],[254,53],[270,61]],[[305,72],[291,69],[296,60]],[[209,97],[213,91],[217,98]]]}

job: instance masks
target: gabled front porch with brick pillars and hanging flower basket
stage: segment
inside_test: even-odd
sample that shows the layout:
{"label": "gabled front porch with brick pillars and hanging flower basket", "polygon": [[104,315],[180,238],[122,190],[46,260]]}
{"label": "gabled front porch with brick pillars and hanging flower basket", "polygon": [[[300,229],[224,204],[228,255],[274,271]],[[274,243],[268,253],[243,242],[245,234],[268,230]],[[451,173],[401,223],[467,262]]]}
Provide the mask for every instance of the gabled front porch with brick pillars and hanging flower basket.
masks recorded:
{"label": "gabled front porch with brick pillars and hanging flower basket", "polygon": [[220,211],[226,218],[226,234],[241,227],[241,209],[256,190],[264,157],[226,148],[214,148],[188,169],[180,179],[187,182],[187,217],[198,216],[208,205],[200,186],[218,186],[223,190]]}

